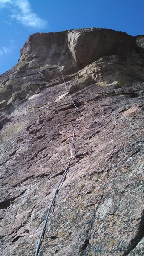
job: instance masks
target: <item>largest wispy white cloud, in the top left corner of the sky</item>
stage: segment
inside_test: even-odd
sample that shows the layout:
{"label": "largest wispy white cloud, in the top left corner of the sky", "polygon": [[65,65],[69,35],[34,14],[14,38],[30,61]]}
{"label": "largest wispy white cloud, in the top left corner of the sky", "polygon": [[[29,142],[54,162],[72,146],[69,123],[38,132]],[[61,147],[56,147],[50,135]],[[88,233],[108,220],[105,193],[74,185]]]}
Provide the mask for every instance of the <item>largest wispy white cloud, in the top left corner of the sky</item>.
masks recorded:
{"label": "largest wispy white cloud, in the top left corner of the sky", "polygon": [[11,6],[11,18],[17,20],[24,26],[42,29],[47,22],[41,19],[35,12],[32,12],[28,0],[0,0],[0,7]]}

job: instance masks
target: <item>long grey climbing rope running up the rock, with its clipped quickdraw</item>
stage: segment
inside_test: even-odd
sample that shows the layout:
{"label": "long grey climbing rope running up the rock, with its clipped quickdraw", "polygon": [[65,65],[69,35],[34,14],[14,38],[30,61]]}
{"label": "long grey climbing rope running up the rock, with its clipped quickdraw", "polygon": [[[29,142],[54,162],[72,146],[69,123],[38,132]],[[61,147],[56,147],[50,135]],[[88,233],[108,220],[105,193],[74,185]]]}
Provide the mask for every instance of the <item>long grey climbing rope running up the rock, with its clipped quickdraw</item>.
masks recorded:
{"label": "long grey climbing rope running up the rock, with its clipped quickdraw", "polygon": [[[57,61],[58,61],[58,60],[57,60]],[[58,62],[58,66],[59,66],[59,69],[60,69],[59,62]],[[64,76],[63,76],[63,73],[61,72],[61,70],[60,70],[60,73],[61,73],[61,75],[62,75],[62,77],[63,77],[63,82],[64,82],[65,87],[66,87],[65,79],[64,79]],[[71,98],[71,100],[72,100],[72,103],[74,104],[75,108],[77,108],[76,105],[75,105],[75,103],[74,103],[74,101],[73,101],[73,99],[72,99],[72,96],[71,96],[70,93],[69,93],[69,90],[68,90],[67,87],[66,87],[66,90],[67,90],[67,92],[68,92],[68,94],[69,94],[69,96],[70,96],[70,98]],[[79,110],[78,108],[77,108],[77,110],[78,110],[79,112],[81,112],[82,114],[84,114],[84,113],[83,113],[81,110]],[[46,219],[45,219],[44,224],[43,224],[43,229],[41,230],[40,238],[39,238],[39,240],[38,240],[38,244],[37,244],[37,249],[36,249],[36,252],[35,252],[35,256],[37,256],[38,253],[39,253],[40,245],[41,245],[41,240],[42,240],[43,235],[44,235],[44,232],[45,232],[45,230],[46,230],[46,224],[47,224],[47,221],[48,221],[48,218],[49,218],[49,214],[50,214],[51,209],[52,209],[52,205],[54,205],[54,203],[55,203],[55,198],[56,198],[56,195],[57,195],[57,193],[58,193],[58,189],[59,189],[59,187],[60,187],[60,184],[62,183],[63,179],[66,177],[66,173],[67,173],[67,171],[68,171],[68,169],[69,169],[69,165],[70,165],[71,160],[75,160],[76,158],[84,157],[84,156],[86,156],[86,155],[91,154],[91,151],[86,151],[86,152],[84,152],[84,153],[81,153],[81,154],[72,156],[73,140],[74,140],[74,137],[75,137],[75,129],[77,128],[77,126],[78,126],[78,124],[79,124],[80,122],[81,122],[81,119],[78,121],[78,123],[75,125],[75,128],[73,129],[72,143],[71,143],[71,154],[70,154],[69,162],[68,162],[68,164],[67,164],[67,166],[66,166],[65,171],[63,172],[63,175],[62,175],[62,177],[61,177],[61,179],[60,179],[60,181],[59,181],[59,183],[58,183],[57,188],[55,189],[55,193],[54,193],[54,195],[53,195],[51,204],[49,205],[48,212],[47,212],[47,215],[46,215]]]}

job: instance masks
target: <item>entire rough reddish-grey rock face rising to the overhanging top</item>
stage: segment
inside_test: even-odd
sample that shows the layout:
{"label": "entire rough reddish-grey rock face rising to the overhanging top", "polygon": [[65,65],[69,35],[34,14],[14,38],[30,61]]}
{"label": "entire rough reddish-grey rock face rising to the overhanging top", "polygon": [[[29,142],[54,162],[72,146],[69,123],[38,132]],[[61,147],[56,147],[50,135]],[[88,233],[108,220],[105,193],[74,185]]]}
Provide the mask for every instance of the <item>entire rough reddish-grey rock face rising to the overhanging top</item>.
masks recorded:
{"label": "entire rough reddish-grey rock face rising to the overhanging top", "polygon": [[73,155],[91,154],[71,161],[39,255],[144,254],[144,36],[92,28],[31,35],[0,76],[1,255],[34,255],[78,121]]}

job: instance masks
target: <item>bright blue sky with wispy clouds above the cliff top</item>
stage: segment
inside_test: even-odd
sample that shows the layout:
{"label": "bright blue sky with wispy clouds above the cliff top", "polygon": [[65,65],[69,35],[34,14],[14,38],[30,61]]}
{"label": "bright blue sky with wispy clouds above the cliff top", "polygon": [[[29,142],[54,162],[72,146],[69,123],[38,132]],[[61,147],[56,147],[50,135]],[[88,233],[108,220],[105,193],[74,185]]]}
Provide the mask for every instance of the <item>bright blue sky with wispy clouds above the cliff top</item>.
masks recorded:
{"label": "bright blue sky with wispy clouds above the cliff top", "polygon": [[144,0],[0,0],[0,74],[30,34],[84,27],[144,35]]}

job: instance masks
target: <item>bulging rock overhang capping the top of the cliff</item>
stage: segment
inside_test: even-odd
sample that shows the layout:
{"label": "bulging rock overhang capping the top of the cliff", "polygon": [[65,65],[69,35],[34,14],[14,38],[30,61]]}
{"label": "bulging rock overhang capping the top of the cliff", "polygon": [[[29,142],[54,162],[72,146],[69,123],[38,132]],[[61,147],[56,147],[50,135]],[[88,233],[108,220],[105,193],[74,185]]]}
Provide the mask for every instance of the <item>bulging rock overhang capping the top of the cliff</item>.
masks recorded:
{"label": "bulging rock overhang capping the top of the cliff", "polygon": [[57,64],[59,59],[60,64],[65,66],[65,73],[69,73],[69,66],[78,71],[102,56],[129,55],[135,45],[135,37],[112,29],[35,33],[21,49],[20,61],[25,61],[27,68],[36,68]]}

